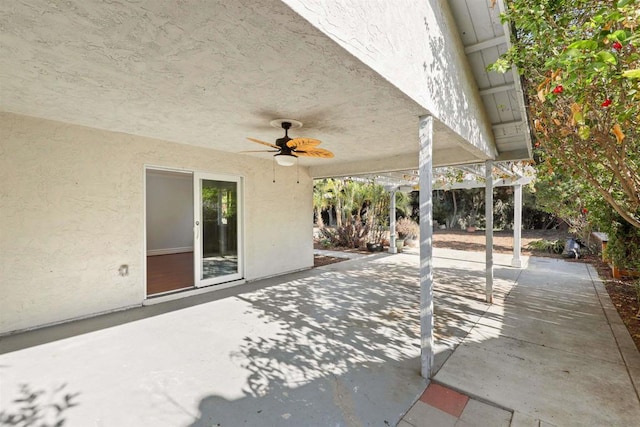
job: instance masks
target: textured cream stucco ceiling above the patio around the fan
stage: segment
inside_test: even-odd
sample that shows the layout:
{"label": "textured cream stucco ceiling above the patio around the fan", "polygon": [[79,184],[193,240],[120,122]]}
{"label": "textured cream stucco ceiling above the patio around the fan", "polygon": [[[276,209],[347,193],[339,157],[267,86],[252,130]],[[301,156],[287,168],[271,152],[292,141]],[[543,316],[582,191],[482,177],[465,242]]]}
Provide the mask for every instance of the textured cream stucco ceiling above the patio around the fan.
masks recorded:
{"label": "textured cream stucco ceiling above the patio around the fan", "polygon": [[[428,112],[278,0],[7,1],[0,31],[3,111],[229,152],[291,118],[335,164],[417,164]],[[436,160],[473,160],[436,132]]]}

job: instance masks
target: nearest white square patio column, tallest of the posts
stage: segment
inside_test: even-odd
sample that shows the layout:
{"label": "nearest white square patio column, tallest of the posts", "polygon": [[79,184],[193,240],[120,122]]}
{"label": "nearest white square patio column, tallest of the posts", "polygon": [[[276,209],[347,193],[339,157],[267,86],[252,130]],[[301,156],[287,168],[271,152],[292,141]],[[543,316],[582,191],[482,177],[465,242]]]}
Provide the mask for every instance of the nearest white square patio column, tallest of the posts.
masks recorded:
{"label": "nearest white square patio column, tallest of the posts", "polygon": [[420,117],[420,362],[429,379],[433,367],[433,117]]}

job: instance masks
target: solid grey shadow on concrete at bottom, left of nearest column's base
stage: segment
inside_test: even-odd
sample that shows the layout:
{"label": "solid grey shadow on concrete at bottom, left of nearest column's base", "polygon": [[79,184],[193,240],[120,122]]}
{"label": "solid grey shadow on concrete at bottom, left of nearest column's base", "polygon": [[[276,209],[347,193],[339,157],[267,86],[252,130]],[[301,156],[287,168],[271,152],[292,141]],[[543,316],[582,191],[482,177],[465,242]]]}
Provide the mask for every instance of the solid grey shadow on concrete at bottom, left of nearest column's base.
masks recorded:
{"label": "solid grey shadow on concrete at bottom, left of nearest column's base", "polygon": [[[371,384],[371,377],[384,375],[389,369],[403,369],[407,376],[415,375],[419,363],[419,358],[413,358],[394,367],[372,363],[351,367],[342,374],[325,372],[322,377],[294,388],[271,381],[266,394],[241,399],[209,395],[200,401],[198,416],[189,427],[395,426],[424,390],[426,382],[414,384],[414,378],[411,383],[395,386],[384,381]],[[407,399],[407,392],[416,396]]]}

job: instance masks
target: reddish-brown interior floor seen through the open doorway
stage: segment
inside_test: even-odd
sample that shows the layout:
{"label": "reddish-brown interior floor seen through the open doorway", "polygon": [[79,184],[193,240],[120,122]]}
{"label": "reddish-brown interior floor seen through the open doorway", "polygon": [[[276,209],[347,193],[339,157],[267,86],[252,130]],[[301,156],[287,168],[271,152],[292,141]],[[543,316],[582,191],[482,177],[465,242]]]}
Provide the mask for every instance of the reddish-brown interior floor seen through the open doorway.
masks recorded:
{"label": "reddish-brown interior floor seen through the open doorway", "polygon": [[193,252],[147,257],[147,295],[194,286]]}

